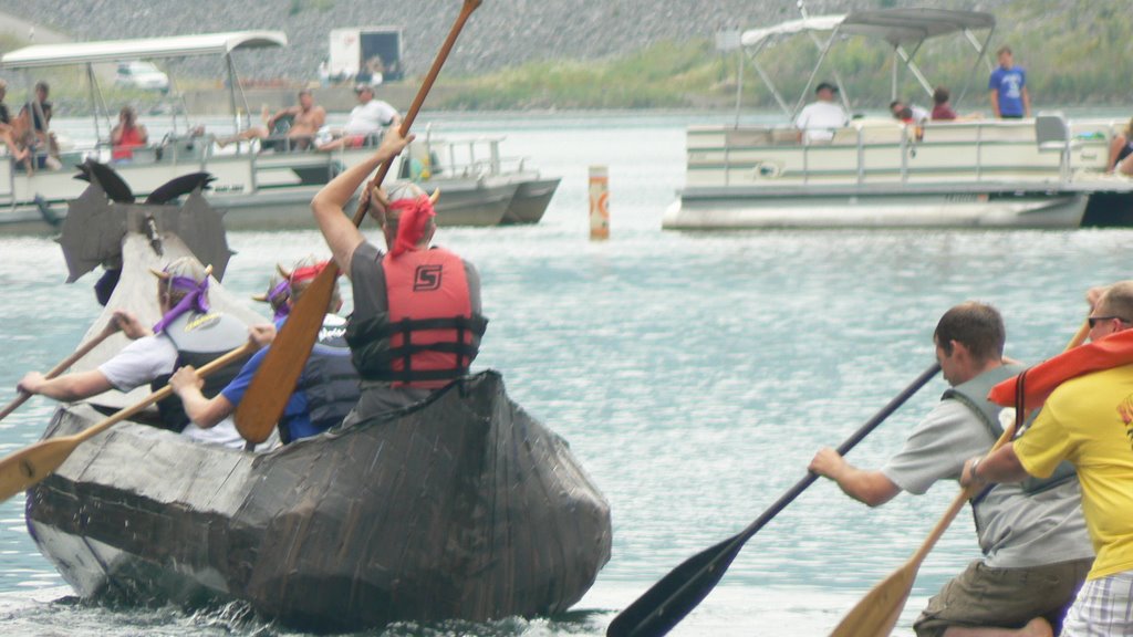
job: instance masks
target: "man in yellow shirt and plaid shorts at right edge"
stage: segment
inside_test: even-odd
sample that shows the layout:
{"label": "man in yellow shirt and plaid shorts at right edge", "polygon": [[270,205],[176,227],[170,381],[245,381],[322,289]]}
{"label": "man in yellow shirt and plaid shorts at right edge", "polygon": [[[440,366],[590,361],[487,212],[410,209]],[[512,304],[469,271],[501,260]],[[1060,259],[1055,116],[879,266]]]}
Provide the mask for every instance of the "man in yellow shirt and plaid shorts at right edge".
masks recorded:
{"label": "man in yellow shirt and plaid shorts at right edge", "polygon": [[[1090,338],[1130,328],[1133,281],[1122,281],[1094,304]],[[1034,424],[995,453],[969,460],[963,481],[1045,477],[1062,460],[1077,470],[1082,512],[1097,552],[1062,635],[1133,635],[1133,365],[1058,385]]]}

